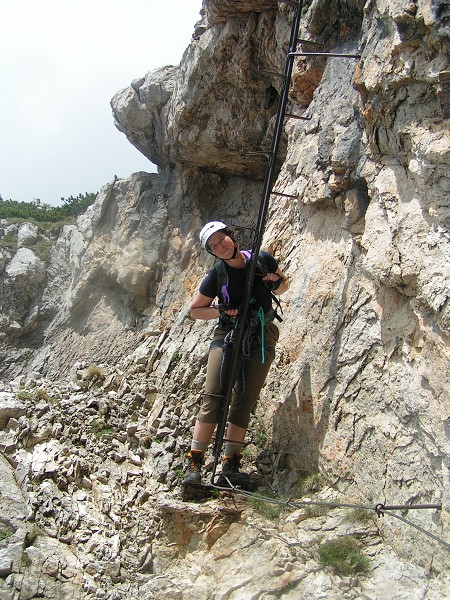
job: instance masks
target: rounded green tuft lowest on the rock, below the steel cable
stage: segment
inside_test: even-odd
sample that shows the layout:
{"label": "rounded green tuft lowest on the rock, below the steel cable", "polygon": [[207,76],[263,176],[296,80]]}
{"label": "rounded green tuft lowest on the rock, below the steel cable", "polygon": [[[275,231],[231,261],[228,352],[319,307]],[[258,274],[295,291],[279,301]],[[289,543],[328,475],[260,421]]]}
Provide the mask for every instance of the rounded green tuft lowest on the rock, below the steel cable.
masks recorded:
{"label": "rounded green tuft lowest on the rock, below the steel cable", "polygon": [[346,535],[319,546],[319,560],[336,575],[356,575],[369,569],[369,559],[361,554],[356,540]]}

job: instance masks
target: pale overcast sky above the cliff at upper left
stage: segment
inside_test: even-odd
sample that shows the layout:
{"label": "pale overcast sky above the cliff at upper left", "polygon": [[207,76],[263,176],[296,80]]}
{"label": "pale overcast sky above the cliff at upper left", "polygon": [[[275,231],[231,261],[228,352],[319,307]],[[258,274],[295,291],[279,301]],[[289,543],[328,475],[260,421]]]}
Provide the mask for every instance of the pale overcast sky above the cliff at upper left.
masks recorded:
{"label": "pale overcast sky above the cliff at upper left", "polygon": [[110,100],[177,65],[202,0],[0,0],[0,194],[49,204],[156,171]]}

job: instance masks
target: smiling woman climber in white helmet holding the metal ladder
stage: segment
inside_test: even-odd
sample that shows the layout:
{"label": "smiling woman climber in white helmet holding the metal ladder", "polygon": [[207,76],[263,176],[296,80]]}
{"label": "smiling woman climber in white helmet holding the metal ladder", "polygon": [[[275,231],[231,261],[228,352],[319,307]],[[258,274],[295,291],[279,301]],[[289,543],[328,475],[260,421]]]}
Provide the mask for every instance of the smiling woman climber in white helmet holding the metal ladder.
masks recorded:
{"label": "smiling woman climber in white helmet holding the metal ladder", "polygon": [[[219,321],[209,348],[205,394],[194,426],[183,485],[201,483],[204,455],[218,423],[223,402],[222,347],[225,348],[225,338],[227,334],[227,339],[232,335],[230,332],[233,332],[236,326],[239,307],[245,295],[246,276],[251,258],[249,251],[239,249],[234,232],[221,221],[207,223],[200,232],[200,242],[203,248],[219,261],[200,284],[199,291],[192,300],[190,314],[193,319],[218,318]],[[246,358],[242,360],[237,389],[230,402],[222,473],[217,481],[219,486],[227,486],[230,482],[233,486],[245,488],[249,483],[248,474],[240,472],[241,450],[250,414],[256,406],[270,365],[275,358],[275,345],[279,336],[278,328],[273,323],[275,312],[272,308],[272,294],[282,294],[289,287],[286,277],[271,254],[261,252],[257,265],[247,319],[247,322],[253,323],[253,328],[249,334],[247,327],[247,333],[244,334],[244,342],[247,345],[244,348],[243,343],[242,350]],[[219,299],[218,305],[212,304],[215,298]],[[259,315],[257,319],[254,317],[256,314]],[[261,324],[255,326],[255,321],[260,321]]]}

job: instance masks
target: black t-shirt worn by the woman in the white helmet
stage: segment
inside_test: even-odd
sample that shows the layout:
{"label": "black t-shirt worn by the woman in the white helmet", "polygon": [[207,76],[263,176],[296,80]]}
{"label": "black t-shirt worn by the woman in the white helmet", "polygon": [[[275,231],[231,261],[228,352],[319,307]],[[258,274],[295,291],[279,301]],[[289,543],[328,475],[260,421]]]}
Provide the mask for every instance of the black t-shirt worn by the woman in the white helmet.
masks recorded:
{"label": "black t-shirt worn by the woman in the white helmet", "polygon": [[[266,260],[267,268],[270,273],[275,273],[278,269],[278,262],[276,259],[269,254],[269,252],[262,251]],[[249,260],[246,257],[245,267],[243,269],[234,269],[223,263],[228,274],[228,295],[229,302],[236,307],[239,307],[245,293],[245,280],[247,277],[247,271],[249,268]],[[227,300],[223,297],[222,291],[217,289],[217,270],[211,269],[208,275],[203,279],[200,284],[200,293],[208,298],[219,298],[219,302],[226,302]],[[270,291],[264,285],[261,275],[256,270],[255,279],[253,283],[252,298],[255,299],[255,308],[263,307],[264,312],[267,312],[272,308],[272,299]]]}

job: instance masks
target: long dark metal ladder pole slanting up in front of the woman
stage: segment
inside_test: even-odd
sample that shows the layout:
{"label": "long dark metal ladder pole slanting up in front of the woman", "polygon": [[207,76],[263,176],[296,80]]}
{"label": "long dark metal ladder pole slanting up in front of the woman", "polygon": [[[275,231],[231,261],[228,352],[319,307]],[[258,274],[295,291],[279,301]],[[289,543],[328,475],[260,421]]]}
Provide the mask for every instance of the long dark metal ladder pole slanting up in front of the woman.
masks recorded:
{"label": "long dark metal ladder pole slanting up in front of the woman", "polygon": [[270,194],[271,194],[271,189],[272,189],[273,179],[274,179],[274,174],[275,174],[276,159],[277,159],[278,150],[280,147],[281,136],[283,134],[283,121],[285,118],[286,105],[287,105],[288,98],[289,98],[289,85],[291,82],[292,68],[293,68],[294,58],[295,58],[293,53],[295,52],[296,46],[297,46],[298,30],[300,28],[300,20],[301,20],[301,15],[302,15],[302,8],[303,8],[303,0],[298,0],[298,1],[296,1],[296,0],[280,0],[280,1],[290,4],[294,7],[293,21],[292,21],[292,26],[291,26],[291,36],[290,36],[290,40],[289,40],[289,50],[288,50],[288,54],[286,57],[286,63],[285,63],[285,68],[284,68],[280,102],[278,104],[278,110],[277,110],[277,115],[276,115],[276,120],[275,120],[274,135],[272,138],[271,150],[269,153],[269,159],[268,159],[266,173],[265,173],[265,177],[264,177],[262,199],[261,199],[257,224],[256,224],[256,228],[255,228],[256,234],[255,234],[255,238],[253,240],[253,245],[252,245],[252,257],[250,259],[250,268],[248,270],[247,277],[246,277],[245,293],[244,293],[244,298],[243,298],[243,301],[241,304],[241,310],[240,310],[240,314],[239,314],[239,326],[235,332],[236,338],[235,338],[235,340],[233,340],[233,348],[232,348],[232,353],[231,353],[230,372],[229,372],[229,377],[228,377],[228,382],[227,382],[227,390],[226,390],[226,392],[224,391],[222,418],[220,419],[220,421],[217,425],[217,433],[216,433],[216,438],[215,438],[215,442],[214,442],[214,466],[213,466],[213,472],[212,472],[212,476],[211,476],[212,484],[214,484],[214,477],[216,474],[217,464],[219,462],[220,453],[222,450],[223,437],[224,437],[225,427],[226,427],[227,418],[228,418],[228,410],[230,407],[231,397],[233,395],[233,387],[234,387],[235,381],[239,374],[239,368],[240,368],[240,363],[241,363],[242,338],[244,335],[244,329],[245,329],[247,315],[248,315],[248,308],[249,308],[249,304],[250,304],[250,298],[252,295],[253,282],[255,279],[257,257],[258,257],[259,251],[261,249],[262,238],[264,235],[265,221],[266,221],[266,217],[267,217],[267,211],[269,208]]}

